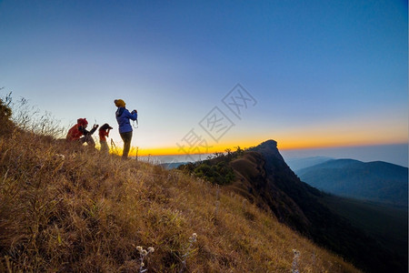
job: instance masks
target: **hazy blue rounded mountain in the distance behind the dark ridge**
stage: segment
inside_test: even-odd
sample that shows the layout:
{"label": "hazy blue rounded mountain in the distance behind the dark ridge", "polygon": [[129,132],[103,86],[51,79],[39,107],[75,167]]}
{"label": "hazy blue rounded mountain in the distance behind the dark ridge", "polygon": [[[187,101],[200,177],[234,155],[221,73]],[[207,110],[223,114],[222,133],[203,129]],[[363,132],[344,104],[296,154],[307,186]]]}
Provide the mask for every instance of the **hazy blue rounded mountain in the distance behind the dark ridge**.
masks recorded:
{"label": "hazy blue rounded mountain in the distance behind the dark ridge", "polygon": [[312,187],[342,197],[354,197],[407,207],[408,168],[374,161],[332,159],[295,170]]}

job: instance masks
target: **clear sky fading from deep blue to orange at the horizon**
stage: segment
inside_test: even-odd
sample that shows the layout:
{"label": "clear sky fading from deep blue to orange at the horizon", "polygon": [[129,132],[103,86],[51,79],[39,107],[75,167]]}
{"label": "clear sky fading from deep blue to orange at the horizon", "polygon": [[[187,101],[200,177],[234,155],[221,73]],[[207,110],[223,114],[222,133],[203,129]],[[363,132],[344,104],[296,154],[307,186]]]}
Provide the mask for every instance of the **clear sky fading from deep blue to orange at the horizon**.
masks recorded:
{"label": "clear sky fading from deep blue to orange at the horizon", "polygon": [[407,144],[407,47],[407,1],[0,1],[4,93],[67,129],[107,122],[119,146],[123,98],[141,154]]}

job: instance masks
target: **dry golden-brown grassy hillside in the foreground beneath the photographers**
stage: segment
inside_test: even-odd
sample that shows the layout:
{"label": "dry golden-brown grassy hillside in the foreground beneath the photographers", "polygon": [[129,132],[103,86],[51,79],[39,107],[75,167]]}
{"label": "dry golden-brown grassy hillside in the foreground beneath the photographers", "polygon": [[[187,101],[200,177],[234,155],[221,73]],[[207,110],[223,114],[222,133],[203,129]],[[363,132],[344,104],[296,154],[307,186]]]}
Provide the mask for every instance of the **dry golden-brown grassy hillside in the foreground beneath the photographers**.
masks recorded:
{"label": "dry golden-brown grassy hillside in the foreground beneath the photographers", "polygon": [[230,191],[18,129],[0,200],[1,272],[358,272]]}

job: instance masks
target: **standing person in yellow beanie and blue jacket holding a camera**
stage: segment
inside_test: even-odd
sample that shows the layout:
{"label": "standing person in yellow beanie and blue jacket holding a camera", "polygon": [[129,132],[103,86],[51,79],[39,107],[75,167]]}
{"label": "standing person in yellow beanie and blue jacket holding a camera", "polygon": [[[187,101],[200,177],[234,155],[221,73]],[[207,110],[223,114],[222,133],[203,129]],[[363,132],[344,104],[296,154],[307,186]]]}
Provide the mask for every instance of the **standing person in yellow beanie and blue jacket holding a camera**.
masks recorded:
{"label": "standing person in yellow beanie and blue jacket holding a camera", "polygon": [[122,157],[128,157],[129,149],[131,147],[132,140],[132,126],[129,119],[136,120],[138,117],[138,112],[133,110],[131,113],[125,108],[125,101],[122,99],[115,99],[115,106],[118,107],[116,110],[116,121],[119,125],[119,135],[121,135],[122,140],[124,140],[124,151]]}

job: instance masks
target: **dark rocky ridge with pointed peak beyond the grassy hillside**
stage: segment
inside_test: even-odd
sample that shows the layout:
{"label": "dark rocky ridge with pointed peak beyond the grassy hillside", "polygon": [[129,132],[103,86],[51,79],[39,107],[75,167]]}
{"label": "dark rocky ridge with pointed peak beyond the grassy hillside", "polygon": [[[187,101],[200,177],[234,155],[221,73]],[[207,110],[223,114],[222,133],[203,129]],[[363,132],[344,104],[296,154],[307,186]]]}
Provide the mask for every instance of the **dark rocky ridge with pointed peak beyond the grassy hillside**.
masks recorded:
{"label": "dark rocky ridge with pointed peak beyond the grassy hillside", "polygon": [[[394,234],[399,236],[394,238],[393,243],[385,245],[384,241],[391,241],[388,231],[383,233],[364,228],[371,227],[374,218],[386,224],[386,217],[383,221],[383,216],[377,214],[375,207],[364,207],[359,202],[356,205],[304,183],[284,162],[274,140],[247,151],[229,153],[179,168],[213,183],[221,181],[224,188],[270,211],[288,227],[353,261],[367,272],[407,272],[406,210],[391,208],[391,212],[388,211],[388,216],[399,213],[394,226],[388,226],[390,233],[398,230]],[[226,175],[217,175],[223,173]],[[358,222],[354,220],[357,213],[349,213],[349,209],[357,213],[370,211],[374,215],[368,219],[360,217],[361,222]]]}

